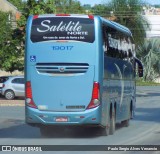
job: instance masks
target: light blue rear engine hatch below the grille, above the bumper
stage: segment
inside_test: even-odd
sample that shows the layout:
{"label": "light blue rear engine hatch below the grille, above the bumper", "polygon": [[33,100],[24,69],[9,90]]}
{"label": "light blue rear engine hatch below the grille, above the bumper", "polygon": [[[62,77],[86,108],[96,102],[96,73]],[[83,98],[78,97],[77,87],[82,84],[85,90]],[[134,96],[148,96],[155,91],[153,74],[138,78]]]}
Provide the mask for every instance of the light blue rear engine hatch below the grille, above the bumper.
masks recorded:
{"label": "light blue rear engine hatch below the grille, above the bumper", "polygon": [[[38,108],[50,111],[81,111],[91,101],[94,66],[84,74],[48,76],[31,68],[33,99]],[[44,81],[47,82],[44,82]]]}

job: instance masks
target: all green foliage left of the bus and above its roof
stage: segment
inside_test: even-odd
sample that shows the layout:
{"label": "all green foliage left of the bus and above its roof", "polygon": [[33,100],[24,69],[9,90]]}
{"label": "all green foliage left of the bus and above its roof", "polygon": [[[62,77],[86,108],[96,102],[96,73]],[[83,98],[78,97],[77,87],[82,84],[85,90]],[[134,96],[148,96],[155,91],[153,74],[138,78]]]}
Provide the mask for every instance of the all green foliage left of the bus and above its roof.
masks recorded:
{"label": "all green foliage left of the bus and above its roof", "polygon": [[[20,8],[20,0],[9,1]],[[77,0],[28,0],[24,6],[14,30],[8,22],[8,14],[0,12],[0,68],[5,71],[24,70],[25,28],[29,15],[83,12]]]}

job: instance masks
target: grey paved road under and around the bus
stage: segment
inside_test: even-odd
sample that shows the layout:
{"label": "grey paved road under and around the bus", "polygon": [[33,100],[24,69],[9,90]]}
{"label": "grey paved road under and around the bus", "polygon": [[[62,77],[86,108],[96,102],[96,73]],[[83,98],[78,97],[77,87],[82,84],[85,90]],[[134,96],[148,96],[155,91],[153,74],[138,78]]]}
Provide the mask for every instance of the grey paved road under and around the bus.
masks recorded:
{"label": "grey paved road under and around the bus", "polygon": [[4,103],[1,99],[1,145],[160,145],[160,87],[138,87],[136,117],[129,127],[118,125],[115,134],[107,137],[94,129],[64,129],[61,134],[42,138],[39,129],[24,123],[23,100]]}

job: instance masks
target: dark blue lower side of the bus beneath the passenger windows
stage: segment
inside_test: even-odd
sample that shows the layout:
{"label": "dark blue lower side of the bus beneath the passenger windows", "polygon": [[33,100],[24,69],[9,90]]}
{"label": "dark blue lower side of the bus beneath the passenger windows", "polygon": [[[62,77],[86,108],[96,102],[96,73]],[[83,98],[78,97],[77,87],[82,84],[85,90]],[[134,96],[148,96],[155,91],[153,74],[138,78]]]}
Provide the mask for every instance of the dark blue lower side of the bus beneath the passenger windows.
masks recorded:
{"label": "dark blue lower side of the bus beneath the passenger windows", "polygon": [[[134,103],[134,70],[131,63],[117,60],[115,58],[104,57],[104,80],[102,94],[102,114],[104,124],[108,121],[107,114],[110,105],[116,103],[116,122],[126,120],[129,115],[130,103]],[[110,104],[110,105],[108,105]],[[104,108],[104,109],[103,109]]]}

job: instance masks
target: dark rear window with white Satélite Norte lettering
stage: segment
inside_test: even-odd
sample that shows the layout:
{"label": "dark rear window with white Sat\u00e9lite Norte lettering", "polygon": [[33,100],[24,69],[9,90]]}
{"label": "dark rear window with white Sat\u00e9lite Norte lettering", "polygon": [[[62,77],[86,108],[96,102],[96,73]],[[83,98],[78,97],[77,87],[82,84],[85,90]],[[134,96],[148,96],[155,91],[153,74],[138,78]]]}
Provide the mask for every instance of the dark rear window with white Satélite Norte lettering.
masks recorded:
{"label": "dark rear window with white Sat\u00e9lite Norte lettering", "polygon": [[76,17],[39,17],[33,19],[31,41],[81,41],[95,40],[94,19]]}

